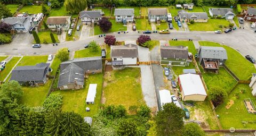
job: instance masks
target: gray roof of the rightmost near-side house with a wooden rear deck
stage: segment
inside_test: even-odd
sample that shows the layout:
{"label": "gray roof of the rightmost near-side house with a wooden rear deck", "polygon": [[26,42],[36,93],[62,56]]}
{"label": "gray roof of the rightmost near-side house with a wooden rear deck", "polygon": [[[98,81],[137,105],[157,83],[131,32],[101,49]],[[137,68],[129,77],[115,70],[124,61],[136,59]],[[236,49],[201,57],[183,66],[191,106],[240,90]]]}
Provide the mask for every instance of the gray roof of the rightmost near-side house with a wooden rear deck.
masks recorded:
{"label": "gray roof of the rightmost near-side house with a wooden rear deck", "polygon": [[227,60],[227,52],[223,47],[211,47],[211,46],[201,46],[199,50],[202,58],[212,58],[212,59],[223,59]]}

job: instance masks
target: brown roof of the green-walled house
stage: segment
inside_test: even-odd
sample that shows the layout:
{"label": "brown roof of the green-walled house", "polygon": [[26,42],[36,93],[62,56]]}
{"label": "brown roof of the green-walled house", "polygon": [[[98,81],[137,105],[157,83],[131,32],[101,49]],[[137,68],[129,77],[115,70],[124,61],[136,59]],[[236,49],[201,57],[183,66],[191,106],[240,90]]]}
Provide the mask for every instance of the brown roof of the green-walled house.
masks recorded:
{"label": "brown roof of the green-walled house", "polygon": [[184,46],[161,46],[161,57],[188,58],[188,49]]}

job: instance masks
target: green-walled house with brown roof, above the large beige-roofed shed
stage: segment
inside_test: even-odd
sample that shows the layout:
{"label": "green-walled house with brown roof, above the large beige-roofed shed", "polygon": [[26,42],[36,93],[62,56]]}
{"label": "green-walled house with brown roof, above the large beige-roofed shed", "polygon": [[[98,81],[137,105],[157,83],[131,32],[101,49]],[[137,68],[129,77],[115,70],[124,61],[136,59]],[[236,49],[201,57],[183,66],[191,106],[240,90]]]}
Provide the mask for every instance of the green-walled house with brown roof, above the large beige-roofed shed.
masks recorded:
{"label": "green-walled house with brown roof, above the large beige-roofed shed", "polygon": [[185,46],[161,46],[161,65],[186,66],[188,48]]}

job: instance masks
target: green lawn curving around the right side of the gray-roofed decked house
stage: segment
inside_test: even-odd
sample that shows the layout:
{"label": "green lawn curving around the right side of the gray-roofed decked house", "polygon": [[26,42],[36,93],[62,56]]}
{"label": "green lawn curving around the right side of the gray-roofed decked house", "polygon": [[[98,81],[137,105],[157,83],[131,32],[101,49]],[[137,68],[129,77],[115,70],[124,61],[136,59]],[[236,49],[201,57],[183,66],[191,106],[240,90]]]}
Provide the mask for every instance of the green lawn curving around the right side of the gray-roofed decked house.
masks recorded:
{"label": "green lawn curving around the right side of the gray-roofed decked house", "polygon": [[201,46],[218,46],[225,48],[228,54],[228,60],[225,64],[232,72],[236,74],[240,80],[249,80],[249,77],[251,77],[252,73],[256,72],[254,65],[247,61],[244,56],[242,56],[239,52],[231,47],[225,45],[222,46],[218,43],[213,43],[210,41],[199,41],[199,44]]}

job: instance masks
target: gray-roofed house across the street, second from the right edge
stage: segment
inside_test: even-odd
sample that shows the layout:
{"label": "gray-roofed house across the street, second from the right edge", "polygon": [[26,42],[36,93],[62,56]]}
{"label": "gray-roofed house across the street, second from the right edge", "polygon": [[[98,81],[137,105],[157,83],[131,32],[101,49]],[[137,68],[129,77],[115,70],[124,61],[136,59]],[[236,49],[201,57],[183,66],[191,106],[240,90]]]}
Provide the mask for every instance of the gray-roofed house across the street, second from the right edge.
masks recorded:
{"label": "gray-roofed house across the street, second from the right edge", "polygon": [[225,19],[233,19],[236,15],[232,8],[209,8],[209,13],[214,18],[221,16]]}

